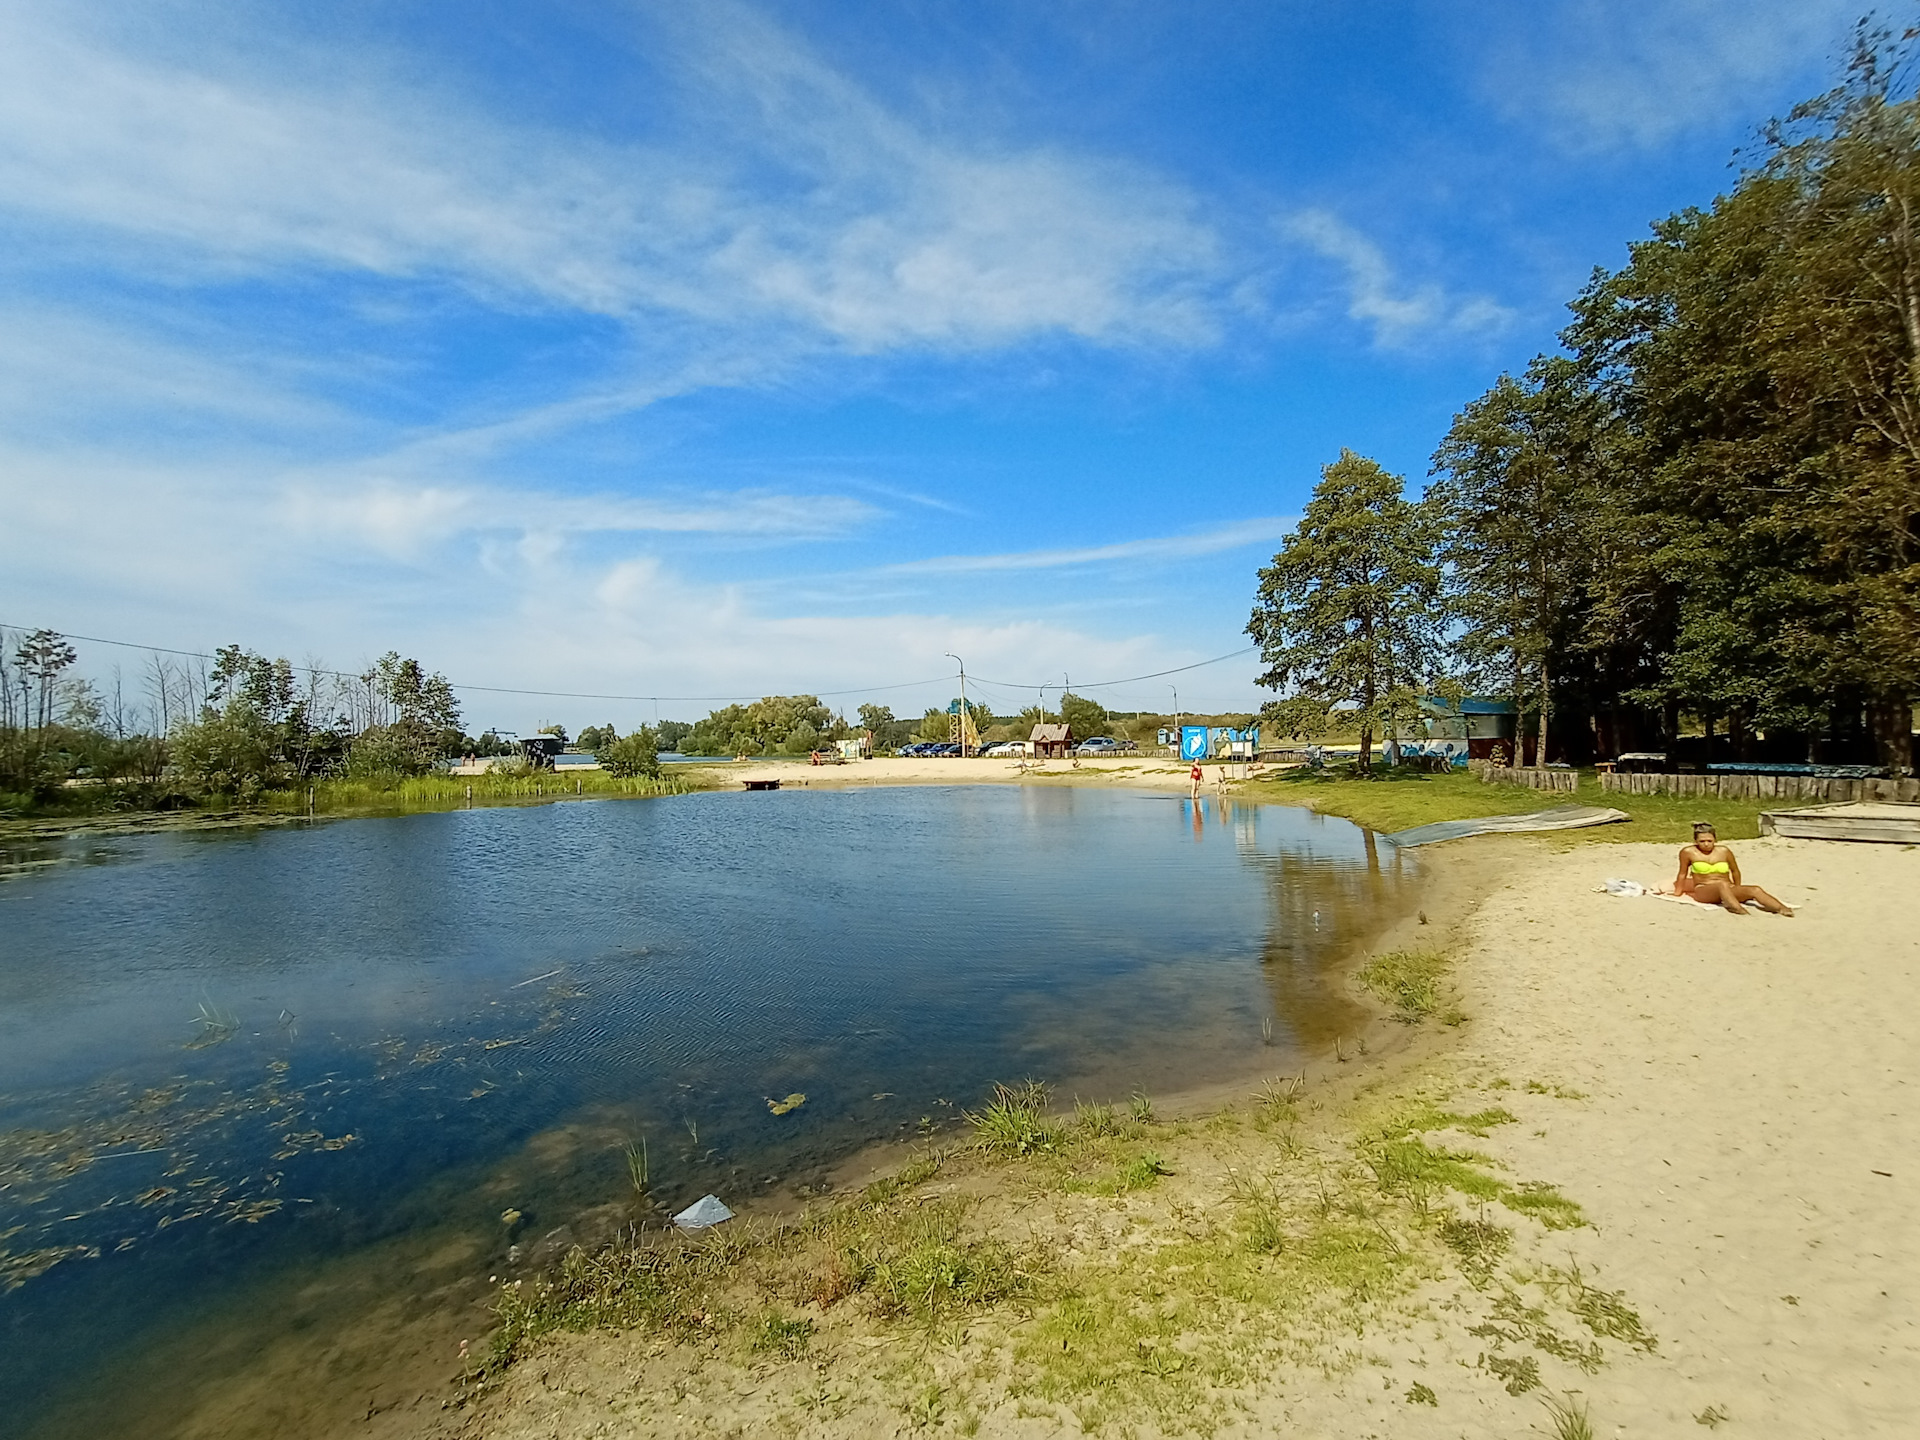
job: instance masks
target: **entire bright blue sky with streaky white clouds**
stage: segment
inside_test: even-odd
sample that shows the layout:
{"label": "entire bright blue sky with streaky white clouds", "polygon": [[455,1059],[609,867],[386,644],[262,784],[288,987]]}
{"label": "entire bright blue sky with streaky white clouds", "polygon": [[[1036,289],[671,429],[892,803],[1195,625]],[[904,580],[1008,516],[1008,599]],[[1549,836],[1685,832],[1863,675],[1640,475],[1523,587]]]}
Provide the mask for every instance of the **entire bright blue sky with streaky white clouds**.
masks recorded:
{"label": "entire bright blue sky with streaky white clouds", "polygon": [[1204,660],[1857,12],[4,4],[0,622],[902,714]]}

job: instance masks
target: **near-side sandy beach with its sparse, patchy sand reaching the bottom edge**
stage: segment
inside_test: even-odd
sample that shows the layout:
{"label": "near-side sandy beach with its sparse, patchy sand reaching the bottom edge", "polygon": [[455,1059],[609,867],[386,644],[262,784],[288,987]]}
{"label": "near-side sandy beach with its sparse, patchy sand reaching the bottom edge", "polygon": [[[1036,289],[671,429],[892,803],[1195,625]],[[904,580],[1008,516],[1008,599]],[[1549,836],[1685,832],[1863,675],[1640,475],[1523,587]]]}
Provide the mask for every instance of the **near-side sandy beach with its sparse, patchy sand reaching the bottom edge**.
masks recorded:
{"label": "near-side sandy beach with its sparse, patchy sand reaching the bottom edge", "polygon": [[[1142,1256],[1215,1231],[1231,1240],[1213,1217],[1244,1202],[1250,1175],[1275,1194],[1309,1198],[1319,1185],[1323,1212],[1367,1213],[1382,1235],[1402,1225],[1396,1254],[1475,1217],[1511,1235],[1498,1265],[1409,1261],[1394,1298],[1382,1288],[1338,1323],[1294,1321],[1311,1332],[1294,1350],[1258,1352],[1290,1359],[1181,1400],[1200,1409],[1156,1411],[1133,1359],[1083,1377],[1079,1392],[1023,1382],[1016,1359],[1037,1354],[1035,1327],[1054,1332],[1044,1317],[981,1315],[914,1342],[847,1304],[806,1309],[818,1336],[791,1361],[618,1331],[541,1340],[476,1398],[467,1432],[1043,1436],[1121,1423],[1160,1434],[1206,1415],[1208,1428],[1248,1436],[1511,1436],[1551,1432],[1546,1398],[1586,1407],[1603,1436],[1908,1434],[1920,1413],[1920,852],[1738,849],[1751,879],[1805,902],[1797,918],[1596,893],[1615,876],[1670,879],[1672,847],[1434,851],[1428,937],[1453,958],[1459,1023],[1382,1020],[1407,1043],[1315,1068],[1306,1119],[1279,1142],[1263,1121],[1281,1114],[1271,1094],[1265,1110],[1242,1098],[1164,1127],[1171,1177],[1142,1194],[1062,1194],[964,1167],[925,1187],[927,1204],[964,1192],[973,1225],[1052,1246],[1094,1296]],[[1380,1208],[1352,1137],[1380,1133],[1380,1116],[1409,1104],[1428,1112],[1428,1144],[1484,1156],[1507,1198],[1551,1187],[1580,1223],[1549,1229],[1484,1194],[1442,1196],[1413,1219]],[[1329,1183],[1348,1188],[1329,1198]],[[1208,1294],[1167,1338],[1185,1356],[1250,1344],[1238,1332],[1260,1325],[1229,1300],[1233,1286]],[[1177,1386],[1175,1371],[1152,1373]]]}

